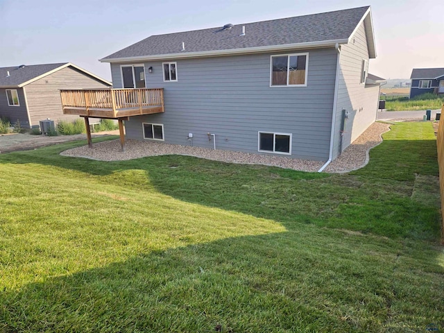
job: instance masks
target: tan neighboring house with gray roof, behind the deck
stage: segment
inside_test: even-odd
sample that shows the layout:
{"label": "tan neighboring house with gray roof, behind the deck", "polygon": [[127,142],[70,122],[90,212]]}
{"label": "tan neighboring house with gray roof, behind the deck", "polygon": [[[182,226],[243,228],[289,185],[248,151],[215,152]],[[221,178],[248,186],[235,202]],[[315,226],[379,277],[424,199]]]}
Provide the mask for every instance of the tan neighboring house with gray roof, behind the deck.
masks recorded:
{"label": "tan neighboring house with gray roof, behind the deck", "polygon": [[62,112],[59,89],[108,88],[111,83],[69,62],[0,68],[0,117],[23,128],[40,120],[73,119]]}

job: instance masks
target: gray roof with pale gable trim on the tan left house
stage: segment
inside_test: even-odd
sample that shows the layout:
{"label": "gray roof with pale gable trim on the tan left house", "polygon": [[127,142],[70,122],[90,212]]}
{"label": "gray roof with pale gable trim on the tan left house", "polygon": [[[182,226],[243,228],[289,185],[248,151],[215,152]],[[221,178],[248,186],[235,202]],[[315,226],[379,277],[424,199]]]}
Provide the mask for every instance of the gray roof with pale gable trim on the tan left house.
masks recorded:
{"label": "gray roof with pale gable trim on the tan left house", "polygon": [[101,82],[105,83],[105,85],[112,85],[112,83],[109,81],[103,80],[103,78],[100,78],[99,76],[89,73],[89,71],[85,71],[85,69],[71,64],[71,62],[60,62],[58,64],[0,67],[0,87],[24,87],[29,83],[33,83],[35,80],[48,76],[49,74],[53,74],[54,72],[65,67],[73,67],[79,71],[82,71],[88,76],[96,78],[96,80],[100,80]]}

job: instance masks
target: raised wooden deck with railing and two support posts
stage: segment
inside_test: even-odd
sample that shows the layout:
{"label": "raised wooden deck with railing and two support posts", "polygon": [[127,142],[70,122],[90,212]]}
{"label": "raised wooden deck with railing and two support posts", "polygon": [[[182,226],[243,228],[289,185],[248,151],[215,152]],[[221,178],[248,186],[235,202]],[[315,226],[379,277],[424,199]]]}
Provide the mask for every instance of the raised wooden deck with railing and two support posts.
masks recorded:
{"label": "raised wooden deck with railing and two support posts", "polygon": [[119,121],[122,151],[125,146],[123,120],[142,114],[162,113],[164,89],[62,89],[63,114],[77,114],[85,118],[87,139],[92,147],[89,117]]}

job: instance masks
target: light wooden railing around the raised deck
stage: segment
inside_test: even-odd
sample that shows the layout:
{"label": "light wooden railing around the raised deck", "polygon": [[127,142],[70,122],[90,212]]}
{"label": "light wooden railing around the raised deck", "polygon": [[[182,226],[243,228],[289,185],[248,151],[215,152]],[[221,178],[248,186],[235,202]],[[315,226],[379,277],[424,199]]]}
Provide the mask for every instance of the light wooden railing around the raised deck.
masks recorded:
{"label": "light wooden railing around the raised deck", "polygon": [[62,106],[116,110],[164,106],[164,89],[62,89]]}

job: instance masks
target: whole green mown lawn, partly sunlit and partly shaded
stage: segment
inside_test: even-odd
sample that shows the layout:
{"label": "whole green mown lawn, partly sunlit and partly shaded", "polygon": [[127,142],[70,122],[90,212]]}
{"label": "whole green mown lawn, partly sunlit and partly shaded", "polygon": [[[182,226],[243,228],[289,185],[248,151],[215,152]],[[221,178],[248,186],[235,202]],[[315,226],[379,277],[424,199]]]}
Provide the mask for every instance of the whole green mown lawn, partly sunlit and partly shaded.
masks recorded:
{"label": "whole green mown lawn, partly sunlit and partly shaded", "polygon": [[431,123],[345,175],[0,155],[0,332],[444,329]]}

